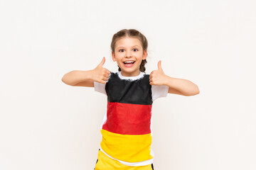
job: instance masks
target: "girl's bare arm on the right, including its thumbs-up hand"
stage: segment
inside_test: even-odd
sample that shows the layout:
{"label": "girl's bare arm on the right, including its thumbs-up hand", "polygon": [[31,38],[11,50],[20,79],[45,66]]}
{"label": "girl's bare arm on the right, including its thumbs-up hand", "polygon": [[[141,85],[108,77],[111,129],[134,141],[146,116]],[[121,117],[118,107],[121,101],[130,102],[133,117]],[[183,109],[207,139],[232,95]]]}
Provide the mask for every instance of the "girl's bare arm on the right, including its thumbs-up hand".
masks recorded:
{"label": "girl's bare arm on the right, including its thumbs-up hand", "polygon": [[149,84],[169,86],[169,94],[179,94],[183,96],[193,96],[199,94],[199,89],[196,84],[186,79],[176,79],[164,74],[161,68],[161,61],[158,63],[158,70],[151,72],[149,76]]}

